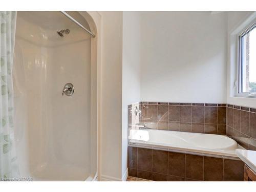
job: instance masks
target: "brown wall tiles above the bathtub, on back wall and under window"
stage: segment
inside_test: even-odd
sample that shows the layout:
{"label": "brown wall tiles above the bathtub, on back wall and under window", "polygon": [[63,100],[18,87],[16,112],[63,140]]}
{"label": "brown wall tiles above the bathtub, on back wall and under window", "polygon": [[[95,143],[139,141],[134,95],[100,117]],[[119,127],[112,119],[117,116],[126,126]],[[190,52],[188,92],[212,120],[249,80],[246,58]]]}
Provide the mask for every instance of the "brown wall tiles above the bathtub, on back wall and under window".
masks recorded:
{"label": "brown wall tiles above the bathtub, on back wall and under window", "polygon": [[244,148],[256,150],[254,108],[173,102],[139,102],[139,106],[142,111],[139,121],[152,129],[227,135]]}

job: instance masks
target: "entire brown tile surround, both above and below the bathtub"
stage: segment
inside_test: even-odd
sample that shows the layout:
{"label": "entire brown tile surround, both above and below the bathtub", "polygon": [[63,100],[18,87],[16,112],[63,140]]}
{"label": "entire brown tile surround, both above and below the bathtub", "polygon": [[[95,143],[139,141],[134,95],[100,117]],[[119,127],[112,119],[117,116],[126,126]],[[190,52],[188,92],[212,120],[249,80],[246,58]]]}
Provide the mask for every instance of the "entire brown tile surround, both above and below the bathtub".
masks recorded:
{"label": "entire brown tile surround, both above and below the bathtub", "polygon": [[[256,150],[256,109],[231,104],[140,102],[139,121],[159,130],[227,135]],[[129,121],[130,122],[130,121]],[[155,181],[242,181],[239,160],[129,146],[129,176]]]}

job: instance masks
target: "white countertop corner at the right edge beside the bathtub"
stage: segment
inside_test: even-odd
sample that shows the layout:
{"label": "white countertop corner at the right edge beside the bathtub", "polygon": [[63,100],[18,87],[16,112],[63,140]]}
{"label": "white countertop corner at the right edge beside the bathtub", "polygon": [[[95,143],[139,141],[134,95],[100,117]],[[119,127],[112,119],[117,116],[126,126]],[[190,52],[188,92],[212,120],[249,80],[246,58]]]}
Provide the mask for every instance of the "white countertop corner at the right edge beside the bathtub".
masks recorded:
{"label": "white countertop corner at the right edge beside the bathtub", "polygon": [[236,150],[236,154],[256,173],[256,151]]}

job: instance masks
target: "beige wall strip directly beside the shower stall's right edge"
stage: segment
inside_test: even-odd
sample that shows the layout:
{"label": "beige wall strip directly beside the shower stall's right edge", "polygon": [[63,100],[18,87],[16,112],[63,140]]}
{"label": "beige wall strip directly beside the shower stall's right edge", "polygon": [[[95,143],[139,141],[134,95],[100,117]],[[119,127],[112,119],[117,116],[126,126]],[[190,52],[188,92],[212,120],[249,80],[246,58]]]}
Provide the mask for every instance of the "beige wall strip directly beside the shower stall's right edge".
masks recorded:
{"label": "beige wall strip directly beside the shower stall's right edge", "polygon": [[100,178],[121,180],[122,12],[102,11]]}

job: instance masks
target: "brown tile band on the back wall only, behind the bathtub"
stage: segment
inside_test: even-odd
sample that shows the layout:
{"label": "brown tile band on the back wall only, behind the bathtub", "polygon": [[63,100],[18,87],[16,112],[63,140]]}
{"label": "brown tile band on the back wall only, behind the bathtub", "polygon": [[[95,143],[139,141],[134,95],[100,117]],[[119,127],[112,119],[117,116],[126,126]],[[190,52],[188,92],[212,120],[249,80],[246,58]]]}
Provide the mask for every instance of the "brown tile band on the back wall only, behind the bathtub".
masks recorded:
{"label": "brown tile band on the back wall only, behind the bathtub", "polygon": [[226,135],[226,104],[140,102],[140,110],[152,129]]}

